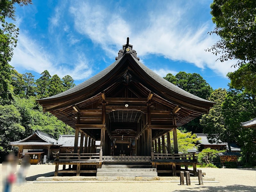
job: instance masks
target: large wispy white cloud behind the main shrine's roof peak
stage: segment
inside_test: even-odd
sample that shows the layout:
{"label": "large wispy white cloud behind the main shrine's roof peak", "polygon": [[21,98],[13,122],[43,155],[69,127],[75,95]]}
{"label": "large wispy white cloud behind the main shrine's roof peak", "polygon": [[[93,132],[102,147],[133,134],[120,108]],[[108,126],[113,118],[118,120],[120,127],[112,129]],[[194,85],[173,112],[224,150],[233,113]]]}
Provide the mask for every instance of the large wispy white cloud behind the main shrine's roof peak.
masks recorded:
{"label": "large wispy white cloud behind the main shrine's roof peak", "polygon": [[[117,55],[129,36],[130,44],[134,45],[141,58],[148,54],[162,55],[171,60],[192,63],[202,69],[208,67],[226,76],[227,72],[234,71],[230,66],[236,61],[223,64],[215,61],[217,56],[204,51],[217,38],[207,35],[207,31],[211,30],[210,23],[191,26],[189,5],[180,7],[169,4],[161,10],[148,12],[143,18],[125,18],[121,13],[113,13],[103,6],[80,2],[72,4],[69,11],[74,15],[76,30],[100,44],[110,57]],[[137,20],[143,20],[144,23],[139,29]]]}

